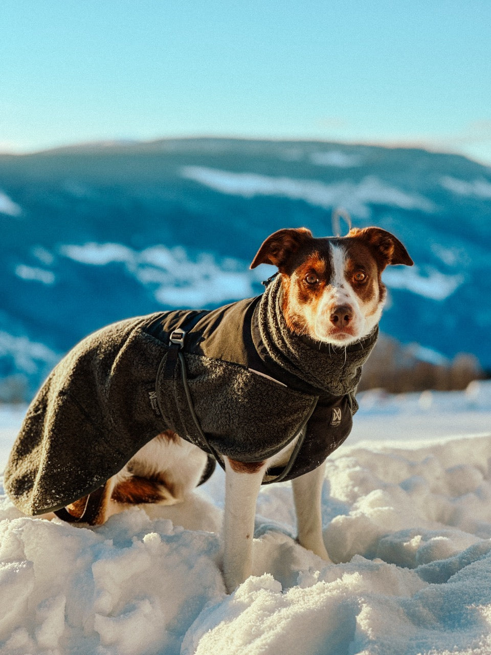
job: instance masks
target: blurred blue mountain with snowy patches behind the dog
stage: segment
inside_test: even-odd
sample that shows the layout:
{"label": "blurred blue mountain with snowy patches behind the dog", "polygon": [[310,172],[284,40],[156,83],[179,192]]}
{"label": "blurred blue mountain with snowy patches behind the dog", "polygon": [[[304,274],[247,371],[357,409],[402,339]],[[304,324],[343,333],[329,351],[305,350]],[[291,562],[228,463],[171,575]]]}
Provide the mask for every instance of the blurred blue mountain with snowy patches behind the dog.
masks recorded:
{"label": "blurred blue mountain with snowy patches behind the dog", "polygon": [[414,259],[384,273],[382,330],[491,369],[490,207],[491,168],[420,149],[196,138],[1,155],[0,379],[29,397],[109,322],[261,293],[272,268],[247,268],[264,238],[331,234],[333,208]]}

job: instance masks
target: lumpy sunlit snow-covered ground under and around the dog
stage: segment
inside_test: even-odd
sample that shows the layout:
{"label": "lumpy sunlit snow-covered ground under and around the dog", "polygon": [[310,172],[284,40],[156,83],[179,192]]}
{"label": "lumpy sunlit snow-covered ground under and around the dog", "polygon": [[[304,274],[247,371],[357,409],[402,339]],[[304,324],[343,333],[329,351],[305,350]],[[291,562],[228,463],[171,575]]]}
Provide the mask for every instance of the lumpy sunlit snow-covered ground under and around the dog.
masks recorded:
{"label": "lumpy sunlit snow-covered ground under and around the dog", "polygon": [[[289,483],[264,487],[254,576],[219,569],[223,474],[181,506],[96,529],[0,497],[2,655],[491,652],[491,384],[361,394],[327,462],[326,565],[295,542]],[[0,468],[23,408],[0,409]]]}

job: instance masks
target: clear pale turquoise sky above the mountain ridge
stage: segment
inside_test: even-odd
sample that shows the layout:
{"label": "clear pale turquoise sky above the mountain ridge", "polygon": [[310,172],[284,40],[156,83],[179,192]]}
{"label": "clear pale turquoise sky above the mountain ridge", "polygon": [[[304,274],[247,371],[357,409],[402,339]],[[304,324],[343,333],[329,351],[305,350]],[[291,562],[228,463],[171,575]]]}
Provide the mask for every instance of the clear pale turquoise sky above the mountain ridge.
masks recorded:
{"label": "clear pale turquoise sky above the mountain ridge", "polygon": [[3,0],[0,151],[185,136],[491,164],[489,0]]}

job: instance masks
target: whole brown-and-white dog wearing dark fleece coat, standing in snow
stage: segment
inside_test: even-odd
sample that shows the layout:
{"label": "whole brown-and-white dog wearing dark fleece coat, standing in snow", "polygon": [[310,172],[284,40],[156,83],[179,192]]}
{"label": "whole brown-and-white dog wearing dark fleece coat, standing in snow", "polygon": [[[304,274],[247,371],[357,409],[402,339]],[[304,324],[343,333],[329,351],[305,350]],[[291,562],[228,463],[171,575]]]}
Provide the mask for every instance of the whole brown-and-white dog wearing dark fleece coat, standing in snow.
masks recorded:
{"label": "whole brown-and-white dog wearing dark fleece coat, standing in snow", "polygon": [[262,296],[120,322],[76,346],[12,449],[14,504],[98,525],[128,504],[181,502],[217,461],[229,592],[251,574],[263,483],[293,480],[299,544],[329,562],[323,462],[351,429],[386,301],[381,273],[413,262],[393,234],[367,227],[325,238],[282,229],[251,268],[263,263],[278,272]]}

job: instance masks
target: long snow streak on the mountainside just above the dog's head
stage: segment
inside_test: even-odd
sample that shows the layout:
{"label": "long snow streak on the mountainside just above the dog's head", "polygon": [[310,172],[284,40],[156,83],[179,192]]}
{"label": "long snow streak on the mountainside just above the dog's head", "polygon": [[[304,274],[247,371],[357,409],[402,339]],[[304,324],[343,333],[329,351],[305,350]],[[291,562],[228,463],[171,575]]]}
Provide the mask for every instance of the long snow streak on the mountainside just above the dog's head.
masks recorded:
{"label": "long snow streak on the mountainside just above the dog's head", "polygon": [[371,204],[384,204],[403,209],[434,212],[433,202],[420,195],[410,195],[391,187],[375,176],[359,183],[346,181],[325,184],[313,179],[274,178],[255,173],[234,173],[205,166],[184,166],[183,178],[192,179],[215,191],[252,198],[257,195],[285,196],[305,200],[309,204],[331,209],[341,206],[350,214],[368,218]]}

